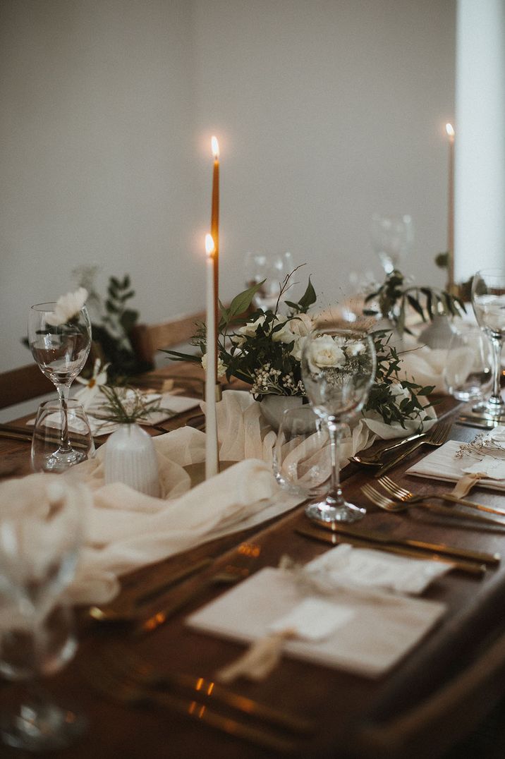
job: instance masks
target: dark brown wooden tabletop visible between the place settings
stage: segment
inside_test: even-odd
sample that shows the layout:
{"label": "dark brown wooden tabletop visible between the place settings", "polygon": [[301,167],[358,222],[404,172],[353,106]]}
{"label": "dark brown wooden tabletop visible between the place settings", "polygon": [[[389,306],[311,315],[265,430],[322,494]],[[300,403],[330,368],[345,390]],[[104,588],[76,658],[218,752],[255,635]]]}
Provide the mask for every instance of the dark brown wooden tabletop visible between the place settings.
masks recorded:
{"label": "dark brown wooden tabletop visible between the place settings", "polygon": [[[198,376],[194,367],[188,370],[185,365],[175,364],[165,372],[153,374],[147,383],[154,386],[160,376],[175,376],[177,379],[188,373]],[[452,400],[444,398],[437,407],[437,412],[439,416],[450,415],[455,408],[456,404]],[[192,411],[177,420],[170,420],[166,429],[184,424],[194,414],[195,411]],[[475,432],[476,430],[455,425],[451,436],[455,439],[472,439]],[[17,474],[30,471],[28,443],[0,439],[0,453],[5,465],[11,463],[18,466]],[[443,483],[437,485],[403,476],[402,473],[412,465],[415,457],[424,454],[424,451],[417,452],[409,461],[396,468],[393,471],[395,480],[402,481],[406,487],[412,487],[412,490],[424,489],[431,493],[443,490]],[[349,465],[342,474],[346,478],[346,494],[365,503],[360,487],[370,478],[368,471]],[[505,505],[503,496],[497,493],[479,489],[474,492],[472,498],[475,500],[502,508]],[[434,518],[421,509],[392,515],[380,512],[369,503],[366,505],[368,515],[360,524],[366,524],[368,528],[402,536],[423,537],[425,540],[445,540],[453,545],[479,550],[500,551],[505,559],[505,527],[503,530],[461,528],[451,524],[448,519]],[[316,543],[295,533],[295,528],[305,523],[303,507],[298,506],[260,528],[214,540],[183,555],[142,568],[123,578],[123,593],[137,590],[150,581],[153,575],[163,578],[175,569],[188,565],[188,562],[211,557],[212,564],[203,572],[168,591],[163,597],[163,601],[176,600],[189,587],[200,586],[204,578],[233,562],[238,556],[238,547],[244,543],[254,546],[254,553],[258,554],[254,559],[254,569],[277,565],[279,557],[284,553],[295,556],[298,561],[308,561],[327,548],[323,543]],[[110,651],[117,656],[120,644],[131,647],[159,671],[191,672],[212,679],[216,669],[238,656],[243,647],[188,628],[185,626],[185,616],[216,597],[219,592],[222,591],[217,587],[209,588],[165,625],[150,635],[136,639],[131,638],[128,628],[99,625],[90,621],[85,609],[80,609],[80,647],[77,656],[62,672],[52,677],[49,688],[63,703],[72,701],[84,711],[89,720],[89,729],[74,746],[54,752],[54,756],[65,759],[192,759],[205,754],[210,759],[249,759],[280,755],[276,751],[266,751],[251,743],[223,735],[222,732],[169,710],[118,705],[103,698],[87,679],[90,660],[96,651]],[[448,679],[457,676],[477,655],[481,645],[502,631],[505,563],[488,570],[484,578],[450,572],[432,584],[424,597],[446,603],[447,613],[425,641],[387,677],[365,679],[284,657],[273,675],[264,682],[240,680],[233,685],[233,690],[314,721],[314,735],[301,741],[293,755],[303,759],[381,755],[379,746],[365,740],[365,727],[387,723],[399,710],[407,709],[417,704],[421,698],[429,696]],[[475,727],[484,714],[484,707],[491,707],[505,691],[505,679],[497,678],[494,686],[494,691],[488,694],[485,703],[479,698],[475,702],[475,708],[470,709],[464,719],[452,720],[450,724],[426,731],[416,739],[415,748],[408,748],[408,754],[403,747],[399,754],[395,754],[392,748],[386,748],[382,755],[408,755],[423,759],[439,756],[460,736]],[[21,686],[2,685],[0,707],[14,703],[20,694]],[[6,757],[19,756],[17,751],[10,748],[4,748],[0,754]]]}

